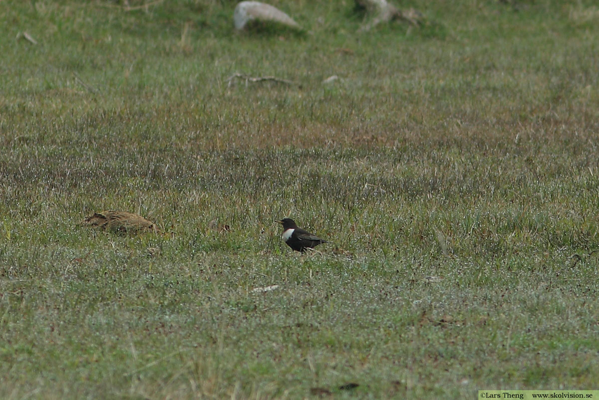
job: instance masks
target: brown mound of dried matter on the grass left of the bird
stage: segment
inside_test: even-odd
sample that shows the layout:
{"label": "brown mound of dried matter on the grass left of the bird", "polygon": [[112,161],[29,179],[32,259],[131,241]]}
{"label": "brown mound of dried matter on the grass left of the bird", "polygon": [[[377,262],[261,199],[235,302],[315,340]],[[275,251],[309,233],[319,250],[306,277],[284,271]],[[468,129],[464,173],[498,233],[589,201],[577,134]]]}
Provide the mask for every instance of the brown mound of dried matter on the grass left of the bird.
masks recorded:
{"label": "brown mound of dried matter on the grass left of the bird", "polygon": [[155,223],[126,211],[94,213],[83,220],[83,225],[95,226],[115,233],[143,234],[161,231]]}

